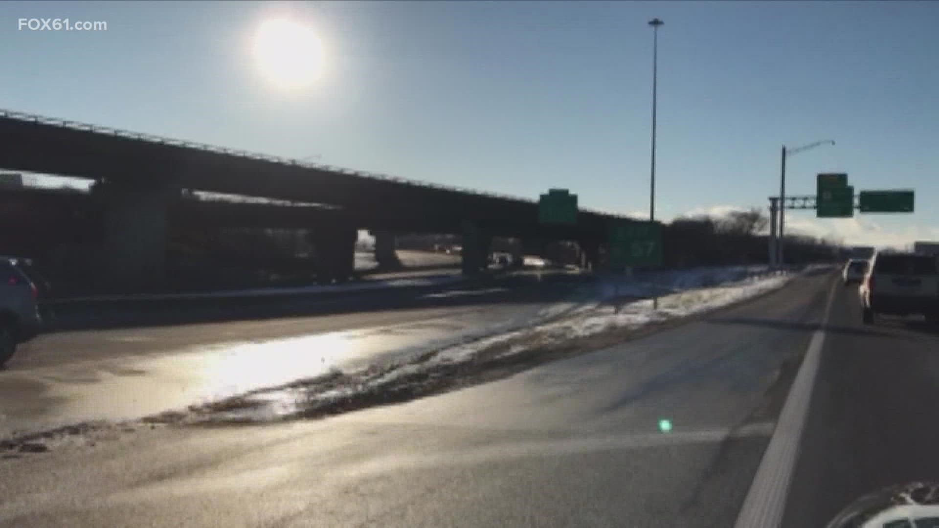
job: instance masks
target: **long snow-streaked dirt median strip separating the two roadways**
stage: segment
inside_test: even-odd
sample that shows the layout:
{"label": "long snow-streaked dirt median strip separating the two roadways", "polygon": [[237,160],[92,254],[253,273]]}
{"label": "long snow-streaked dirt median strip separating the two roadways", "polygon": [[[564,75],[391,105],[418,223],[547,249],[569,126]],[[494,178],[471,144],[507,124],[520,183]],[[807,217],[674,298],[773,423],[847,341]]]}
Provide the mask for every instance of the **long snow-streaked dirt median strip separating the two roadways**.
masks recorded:
{"label": "long snow-streaked dirt median strip separating the two roadways", "polygon": [[[809,267],[803,273],[823,269],[830,270],[831,266]],[[594,284],[582,288],[576,298],[569,302],[547,306],[539,313],[540,317],[529,320],[527,327],[513,328],[516,321],[507,321],[505,325],[499,325],[501,329],[489,329],[505,330],[500,334],[481,334],[473,340],[464,335],[456,343],[441,343],[442,346],[437,349],[424,349],[421,354],[411,355],[403,363],[352,372],[332,368],[325,376],[197,404],[187,412],[163,412],[118,424],[66,427],[0,442],[0,452],[25,452],[33,448],[46,450],[56,443],[72,442],[69,440],[71,437],[78,439],[74,442],[93,444],[115,434],[119,436],[121,431],[160,427],[160,424],[252,423],[313,418],[407,401],[465,386],[467,383],[491,380],[493,375],[498,378],[508,375],[506,372],[517,372],[546,361],[570,357],[571,354],[622,343],[634,329],[737,303],[783,287],[796,275],[790,272],[753,276],[751,273],[754,272],[765,272],[765,268],[659,272],[654,280],[648,275],[634,277],[631,287],[638,294],[648,295],[649,285],[653,285],[656,292],[661,292],[663,285],[686,288],[674,293],[659,293],[657,310],[653,309],[648,299],[621,305],[611,301],[620,303],[622,297],[612,300],[601,295],[598,299],[597,292],[603,293],[609,286],[608,281],[599,281],[599,289]],[[639,278],[643,280],[635,280]],[[704,286],[734,278],[736,280],[731,283]],[[620,290],[621,295],[624,289]]]}

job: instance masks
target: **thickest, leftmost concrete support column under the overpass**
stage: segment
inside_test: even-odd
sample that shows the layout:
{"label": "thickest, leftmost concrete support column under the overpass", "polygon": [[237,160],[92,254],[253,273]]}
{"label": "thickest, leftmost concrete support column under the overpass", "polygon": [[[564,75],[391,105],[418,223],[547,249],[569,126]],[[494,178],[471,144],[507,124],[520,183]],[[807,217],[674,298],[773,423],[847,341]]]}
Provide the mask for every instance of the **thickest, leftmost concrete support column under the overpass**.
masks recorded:
{"label": "thickest, leftmost concrete support column under the overpass", "polygon": [[113,291],[164,287],[167,211],[179,198],[179,188],[100,182],[92,195],[104,213],[99,286]]}

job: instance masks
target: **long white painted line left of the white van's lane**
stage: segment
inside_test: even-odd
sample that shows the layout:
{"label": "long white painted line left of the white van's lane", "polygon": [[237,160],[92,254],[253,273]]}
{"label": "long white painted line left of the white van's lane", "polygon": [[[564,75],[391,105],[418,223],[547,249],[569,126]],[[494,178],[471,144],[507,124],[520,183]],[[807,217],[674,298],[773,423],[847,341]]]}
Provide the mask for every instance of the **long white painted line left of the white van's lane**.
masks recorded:
{"label": "long white painted line left of the white van's lane", "polygon": [[[828,303],[825,305],[822,319],[823,328],[831,318],[831,305],[835,300],[837,286],[838,282],[833,283],[828,293]],[[736,528],[776,528],[782,523],[799,441],[808,418],[808,404],[821,363],[824,336],[824,329],[816,330],[812,334],[806,356],[795,375],[782,412],[779,413],[776,430],[766,446],[760,467],[734,524]]]}

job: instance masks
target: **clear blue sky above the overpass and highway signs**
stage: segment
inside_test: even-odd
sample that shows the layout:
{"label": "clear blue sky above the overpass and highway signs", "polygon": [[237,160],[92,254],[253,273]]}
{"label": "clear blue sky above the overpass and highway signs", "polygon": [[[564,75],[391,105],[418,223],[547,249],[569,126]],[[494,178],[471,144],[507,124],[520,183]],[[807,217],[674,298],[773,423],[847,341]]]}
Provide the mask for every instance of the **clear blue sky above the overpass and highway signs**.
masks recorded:
{"label": "clear blue sky above the overpass and highway signs", "polygon": [[[641,215],[654,17],[656,218],[766,208],[781,146],[833,139],[790,157],[788,193],[846,172],[855,190],[915,189],[916,213],[787,225],[939,240],[933,2],[5,2],[0,107]],[[107,30],[20,29],[31,18]],[[285,57],[321,57],[306,85],[254,53],[284,19],[321,44]]]}

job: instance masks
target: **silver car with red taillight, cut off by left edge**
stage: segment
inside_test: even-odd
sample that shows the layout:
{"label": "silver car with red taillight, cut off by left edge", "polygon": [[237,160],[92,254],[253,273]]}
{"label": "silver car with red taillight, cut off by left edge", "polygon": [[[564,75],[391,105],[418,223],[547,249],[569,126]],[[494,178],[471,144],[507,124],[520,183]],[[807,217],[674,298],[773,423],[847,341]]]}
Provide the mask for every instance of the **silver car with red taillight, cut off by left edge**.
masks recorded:
{"label": "silver car with red taillight, cut off by left edge", "polygon": [[0,366],[6,364],[18,344],[36,334],[42,325],[36,282],[30,278],[28,260],[0,256]]}

